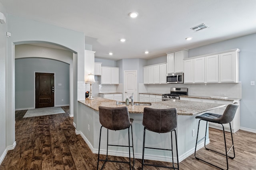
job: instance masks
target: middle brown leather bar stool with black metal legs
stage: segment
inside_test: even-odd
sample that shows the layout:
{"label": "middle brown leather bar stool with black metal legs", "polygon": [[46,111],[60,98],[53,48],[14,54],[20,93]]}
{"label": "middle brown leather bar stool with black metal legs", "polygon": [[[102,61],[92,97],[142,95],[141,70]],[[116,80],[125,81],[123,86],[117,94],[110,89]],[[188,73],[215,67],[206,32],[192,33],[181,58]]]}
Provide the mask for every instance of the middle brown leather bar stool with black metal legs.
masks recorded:
{"label": "middle brown leather bar stool with black metal legs", "polygon": [[[176,111],[176,108],[153,109],[153,108],[149,108],[149,107],[144,107],[142,125],[144,126],[144,137],[143,137],[142,168],[141,169],[143,170],[144,165],[156,166],[156,167],[162,167],[162,168],[179,169],[177,136],[176,136],[176,130],[175,130],[175,128],[177,127],[177,111]],[[172,131],[174,131],[175,141],[176,141],[177,162],[178,162],[178,167],[177,168],[175,168],[175,166],[174,166],[173,146],[172,146],[172,149],[160,149],[160,148],[145,147],[146,129],[148,131],[152,131],[152,132],[156,132],[156,133],[171,132],[171,146],[172,146]],[[170,166],[160,166],[160,165],[156,165],[156,164],[144,164],[144,151],[145,151],[145,149],[170,150],[172,152],[172,167],[170,167]]]}

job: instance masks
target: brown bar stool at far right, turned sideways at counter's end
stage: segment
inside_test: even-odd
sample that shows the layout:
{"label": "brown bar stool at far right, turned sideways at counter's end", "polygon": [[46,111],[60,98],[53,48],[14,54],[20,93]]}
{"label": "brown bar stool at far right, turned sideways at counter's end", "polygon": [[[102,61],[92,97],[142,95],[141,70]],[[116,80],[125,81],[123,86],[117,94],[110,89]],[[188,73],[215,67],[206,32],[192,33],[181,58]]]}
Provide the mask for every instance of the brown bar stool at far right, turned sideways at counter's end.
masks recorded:
{"label": "brown bar stool at far right, turned sideways at counter's end", "polygon": [[[229,104],[226,107],[223,115],[218,115],[218,114],[214,114],[214,113],[204,113],[204,114],[202,114],[200,116],[196,116],[196,119],[200,119],[199,123],[198,123],[198,130],[197,130],[197,136],[196,136],[196,146],[197,146],[197,144],[200,141],[202,141],[204,139],[204,147],[205,147],[206,150],[210,150],[210,151],[213,151],[213,152],[216,152],[218,154],[222,154],[222,155],[226,156],[226,164],[227,164],[227,169],[226,170],[228,170],[228,157],[231,158],[231,159],[235,158],[235,149],[234,149],[234,142],[233,142],[233,136],[232,136],[232,130],[231,130],[230,122],[234,119],[234,116],[236,114],[236,110],[237,110],[238,106],[239,106],[239,104],[237,102],[235,102],[234,104]],[[205,142],[206,142],[206,131],[205,131],[205,136],[198,141],[198,131],[199,131],[199,125],[200,125],[200,121],[201,120],[206,121],[206,131],[207,131],[208,121],[209,122],[213,122],[213,123],[218,123],[218,124],[222,125],[223,135],[224,135],[224,143],[225,143],[225,154],[220,153],[220,152],[218,152],[216,150],[212,150],[212,149],[206,148],[206,145],[205,145]],[[224,130],[224,126],[223,126],[223,124],[226,124],[226,123],[229,123],[231,139],[232,139],[232,145],[231,145],[231,147],[228,150],[227,150],[227,145],[226,145],[225,130]],[[234,156],[228,156],[228,152],[232,148],[233,148]],[[196,147],[195,147],[195,157],[196,157]],[[202,159],[200,159],[198,157],[196,157],[196,159],[197,160],[202,160]],[[210,164],[212,166],[215,166],[217,168],[220,168],[219,166],[216,166],[216,165],[214,165],[214,164],[212,164],[210,162],[207,162],[206,160],[202,160],[202,161],[206,162],[206,163],[208,163],[208,164]],[[220,168],[220,169],[222,169],[222,168]]]}

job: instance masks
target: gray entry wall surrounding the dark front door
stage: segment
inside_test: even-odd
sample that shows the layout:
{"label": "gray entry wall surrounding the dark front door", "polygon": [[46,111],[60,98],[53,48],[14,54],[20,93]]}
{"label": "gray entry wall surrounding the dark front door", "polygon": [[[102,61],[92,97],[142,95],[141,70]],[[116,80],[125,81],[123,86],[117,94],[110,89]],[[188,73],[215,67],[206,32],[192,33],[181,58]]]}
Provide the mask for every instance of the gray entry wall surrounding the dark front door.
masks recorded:
{"label": "gray entry wall surrounding the dark front door", "polygon": [[[69,64],[50,59],[26,58],[15,59],[15,109],[34,107],[34,72],[55,73],[54,106],[69,105]],[[59,83],[62,86],[58,86]]]}

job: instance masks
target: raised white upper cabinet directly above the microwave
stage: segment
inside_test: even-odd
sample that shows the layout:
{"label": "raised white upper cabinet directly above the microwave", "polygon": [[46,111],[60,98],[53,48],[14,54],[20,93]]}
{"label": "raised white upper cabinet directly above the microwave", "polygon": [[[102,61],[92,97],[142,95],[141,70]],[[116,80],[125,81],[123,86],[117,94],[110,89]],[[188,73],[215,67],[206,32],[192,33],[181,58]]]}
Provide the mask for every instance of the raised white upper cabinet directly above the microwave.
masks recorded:
{"label": "raised white upper cabinet directly above the microwave", "polygon": [[167,73],[183,72],[183,59],[188,57],[187,50],[167,54]]}

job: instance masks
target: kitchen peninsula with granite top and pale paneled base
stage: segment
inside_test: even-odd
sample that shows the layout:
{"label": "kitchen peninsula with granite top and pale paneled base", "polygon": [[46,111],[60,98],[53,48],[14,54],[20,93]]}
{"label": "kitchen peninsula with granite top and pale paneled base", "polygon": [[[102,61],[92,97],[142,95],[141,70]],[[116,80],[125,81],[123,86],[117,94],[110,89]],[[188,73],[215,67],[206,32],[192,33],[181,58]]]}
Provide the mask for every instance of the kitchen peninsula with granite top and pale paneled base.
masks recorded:
{"label": "kitchen peninsula with granite top and pale paneled base", "polygon": [[[94,100],[82,100],[78,102],[78,112],[80,112],[80,117],[78,117],[78,122],[76,125],[76,134],[80,134],[84,141],[88,144],[93,153],[98,153],[98,143],[100,134],[100,122],[98,107],[108,106],[108,107],[122,107],[126,105],[116,105],[116,101],[104,99],[100,97],[95,97]],[[140,102],[136,102],[140,103]],[[202,114],[204,112],[210,111],[212,109],[217,109],[224,107],[223,104],[211,104],[211,103],[201,103],[201,102],[191,102],[182,100],[169,100],[162,102],[152,102],[151,106],[128,106],[128,111],[130,118],[134,119],[133,127],[133,137],[134,137],[134,156],[135,158],[142,158],[142,143],[143,143],[143,130],[142,125],[143,109],[144,107],[151,108],[173,108],[177,109],[177,143],[178,143],[178,156],[179,162],[184,160],[190,154],[194,153],[194,147],[196,144],[196,133],[198,127],[198,119],[195,119],[196,115]],[[204,123],[205,125],[205,123]],[[199,137],[204,136],[205,126],[200,126],[202,129],[199,131]],[[106,154],[106,129],[102,129],[102,144],[101,144],[101,154]],[[193,132],[194,131],[194,135]],[[110,141],[113,145],[128,145],[128,131],[110,131]],[[170,133],[158,134],[150,131],[146,132],[146,146],[147,147],[159,147],[170,149]],[[207,143],[209,143],[207,138]],[[175,146],[175,140],[173,139]],[[203,142],[198,145],[198,149],[203,147]],[[115,156],[125,156],[128,157],[127,148],[117,148],[109,147],[109,154]],[[160,160],[160,161],[170,161],[171,153],[162,150],[145,150],[145,159],[150,160]],[[177,162],[176,152],[174,150],[174,162]]]}

